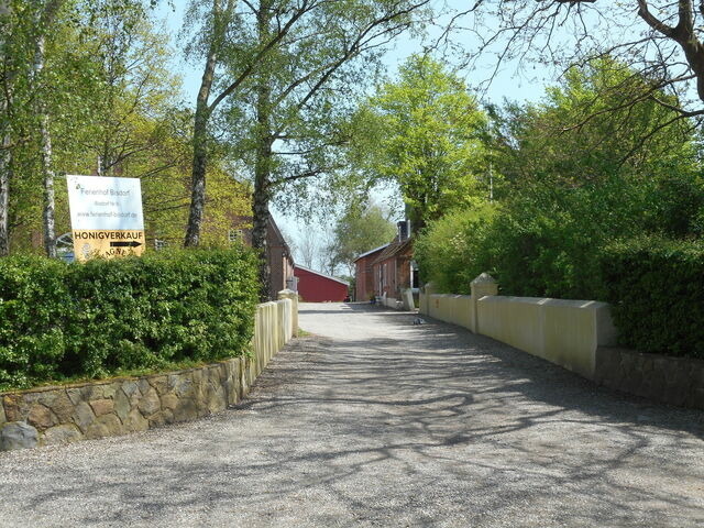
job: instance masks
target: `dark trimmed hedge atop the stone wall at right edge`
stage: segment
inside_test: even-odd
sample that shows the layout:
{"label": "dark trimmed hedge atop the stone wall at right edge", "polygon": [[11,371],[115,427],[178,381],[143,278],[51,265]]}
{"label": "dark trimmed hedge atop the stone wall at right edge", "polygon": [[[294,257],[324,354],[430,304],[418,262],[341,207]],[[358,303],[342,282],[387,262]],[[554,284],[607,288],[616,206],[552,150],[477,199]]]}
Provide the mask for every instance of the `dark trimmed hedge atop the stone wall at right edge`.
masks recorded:
{"label": "dark trimmed hedge atop the stone wall at right edge", "polygon": [[704,244],[644,238],[606,248],[600,265],[622,344],[704,359]]}

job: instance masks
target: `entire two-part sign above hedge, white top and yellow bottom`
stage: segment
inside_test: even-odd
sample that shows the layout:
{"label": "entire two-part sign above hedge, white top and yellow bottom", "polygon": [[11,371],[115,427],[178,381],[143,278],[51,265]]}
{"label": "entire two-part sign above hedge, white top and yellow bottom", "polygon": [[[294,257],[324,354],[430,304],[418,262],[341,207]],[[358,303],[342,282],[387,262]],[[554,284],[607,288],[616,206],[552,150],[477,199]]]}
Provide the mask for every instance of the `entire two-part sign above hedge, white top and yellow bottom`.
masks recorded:
{"label": "entire two-part sign above hedge, white top and yellow bottom", "polygon": [[139,178],[66,176],[77,261],[144,253],[144,217]]}

